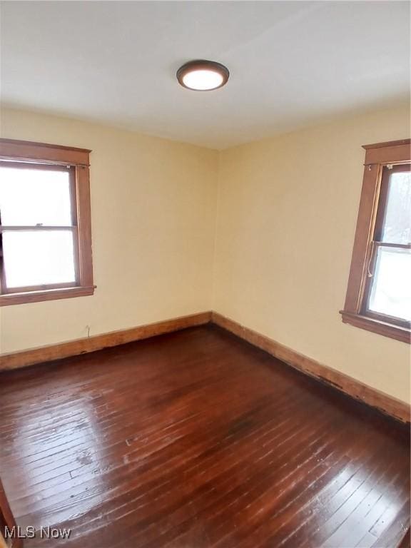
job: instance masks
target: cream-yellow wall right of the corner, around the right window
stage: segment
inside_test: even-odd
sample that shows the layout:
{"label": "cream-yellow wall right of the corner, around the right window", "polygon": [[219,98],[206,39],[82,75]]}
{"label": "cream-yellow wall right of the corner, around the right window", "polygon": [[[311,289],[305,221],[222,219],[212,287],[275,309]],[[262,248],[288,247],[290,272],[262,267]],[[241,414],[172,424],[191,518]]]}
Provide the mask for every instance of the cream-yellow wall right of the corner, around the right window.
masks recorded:
{"label": "cream-yellow wall right of the corner, around the right window", "polygon": [[362,144],[410,136],[407,108],[220,153],[219,313],[410,401],[410,345],[342,323]]}

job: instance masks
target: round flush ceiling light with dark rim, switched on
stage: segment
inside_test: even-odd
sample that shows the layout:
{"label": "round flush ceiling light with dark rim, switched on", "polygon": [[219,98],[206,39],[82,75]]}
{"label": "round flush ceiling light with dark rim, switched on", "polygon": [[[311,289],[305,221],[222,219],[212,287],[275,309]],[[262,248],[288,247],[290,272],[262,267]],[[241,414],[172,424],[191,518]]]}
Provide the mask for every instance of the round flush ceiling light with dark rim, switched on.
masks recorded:
{"label": "round flush ceiling light with dark rim, switched on", "polygon": [[228,68],[215,61],[189,61],[177,71],[177,80],[181,86],[195,91],[210,91],[221,88],[227,83]]}

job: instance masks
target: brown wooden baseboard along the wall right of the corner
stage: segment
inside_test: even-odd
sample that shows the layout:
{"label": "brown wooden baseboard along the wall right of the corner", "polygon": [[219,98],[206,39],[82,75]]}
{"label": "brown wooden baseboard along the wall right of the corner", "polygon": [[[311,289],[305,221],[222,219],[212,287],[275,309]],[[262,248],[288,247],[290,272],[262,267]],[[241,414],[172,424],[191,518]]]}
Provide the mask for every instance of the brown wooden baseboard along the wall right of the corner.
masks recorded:
{"label": "brown wooden baseboard along the wall right of the corner", "polygon": [[319,362],[312,360],[310,357],[295,352],[295,350],[291,350],[290,348],[281,345],[280,342],[276,342],[265,335],[261,335],[257,331],[245,328],[234,320],[225,318],[225,316],[216,312],[211,313],[211,321],[221,328],[230,331],[230,333],[250,342],[252,345],[265,350],[265,352],[277,357],[278,360],[304,372],[306,375],[310,375],[321,382],[332,385],[341,392],[344,392],[356,400],[361,400],[367,405],[377,407],[378,410],[385,412],[387,415],[391,415],[402,422],[410,422],[410,405],[407,405],[407,403],[365,385],[359,380],[355,380],[342,372],[331,369],[331,367],[322,365]]}

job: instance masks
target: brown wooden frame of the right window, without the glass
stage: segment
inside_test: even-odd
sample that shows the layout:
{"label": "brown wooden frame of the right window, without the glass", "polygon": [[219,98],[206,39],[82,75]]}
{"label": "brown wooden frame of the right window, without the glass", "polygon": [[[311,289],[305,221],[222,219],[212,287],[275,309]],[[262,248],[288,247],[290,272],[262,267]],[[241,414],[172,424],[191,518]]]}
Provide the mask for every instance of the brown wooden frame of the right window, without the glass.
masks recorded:
{"label": "brown wooden frame of the right window, without the glass", "polygon": [[[385,337],[410,343],[410,323],[400,318],[392,318],[367,310],[367,301],[371,282],[368,269],[375,263],[378,246],[381,243],[380,231],[384,220],[387,188],[384,178],[387,177],[387,166],[410,164],[410,139],[363,145],[365,148],[364,177],[360,208],[358,210],[357,228],[352,249],[350,275],[344,310],[340,310],[342,321],[357,328],[372,331]],[[395,244],[395,247],[402,247]],[[409,248],[410,246],[404,245]]]}

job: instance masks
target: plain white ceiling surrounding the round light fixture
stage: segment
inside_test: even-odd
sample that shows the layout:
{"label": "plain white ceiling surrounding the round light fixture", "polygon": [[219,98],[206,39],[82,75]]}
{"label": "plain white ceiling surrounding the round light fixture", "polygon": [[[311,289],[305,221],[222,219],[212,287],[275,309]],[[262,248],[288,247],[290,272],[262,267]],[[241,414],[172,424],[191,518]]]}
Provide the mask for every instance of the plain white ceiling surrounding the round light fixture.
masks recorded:
{"label": "plain white ceiling surrounding the round light fixture", "polygon": [[[190,59],[227,86],[178,85]],[[405,1],[4,1],[4,104],[225,148],[407,100]]]}

